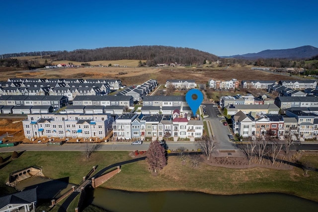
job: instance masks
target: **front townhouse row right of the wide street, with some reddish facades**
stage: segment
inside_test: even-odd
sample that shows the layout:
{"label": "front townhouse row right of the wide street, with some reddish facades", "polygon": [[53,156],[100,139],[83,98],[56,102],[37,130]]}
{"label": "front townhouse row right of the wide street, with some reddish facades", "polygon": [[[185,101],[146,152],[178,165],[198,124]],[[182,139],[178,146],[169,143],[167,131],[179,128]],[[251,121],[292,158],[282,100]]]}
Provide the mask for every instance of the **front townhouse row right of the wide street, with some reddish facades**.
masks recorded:
{"label": "front townhouse row right of the wide street, with some reddish facades", "polygon": [[318,109],[293,108],[286,115],[264,114],[255,117],[239,111],[232,116],[232,130],[242,137],[286,136],[292,139],[318,139]]}

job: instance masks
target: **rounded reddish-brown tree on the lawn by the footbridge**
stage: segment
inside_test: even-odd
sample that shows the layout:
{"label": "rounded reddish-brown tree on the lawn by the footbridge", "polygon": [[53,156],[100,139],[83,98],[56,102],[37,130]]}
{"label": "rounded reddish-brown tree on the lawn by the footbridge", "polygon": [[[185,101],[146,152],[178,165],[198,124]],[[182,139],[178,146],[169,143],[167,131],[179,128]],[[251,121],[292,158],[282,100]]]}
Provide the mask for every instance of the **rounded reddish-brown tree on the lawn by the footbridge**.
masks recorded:
{"label": "rounded reddish-brown tree on the lawn by the footbridge", "polygon": [[153,141],[150,143],[146,155],[146,161],[149,164],[149,169],[155,173],[167,164],[165,149],[160,145],[159,141]]}

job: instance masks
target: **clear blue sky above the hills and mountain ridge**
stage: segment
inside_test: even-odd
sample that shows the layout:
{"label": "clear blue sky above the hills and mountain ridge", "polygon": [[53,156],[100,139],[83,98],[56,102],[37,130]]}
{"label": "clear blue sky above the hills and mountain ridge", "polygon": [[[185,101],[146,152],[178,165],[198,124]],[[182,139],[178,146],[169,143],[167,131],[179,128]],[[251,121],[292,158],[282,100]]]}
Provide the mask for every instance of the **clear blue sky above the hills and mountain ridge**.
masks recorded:
{"label": "clear blue sky above the hills and mountain ridge", "polygon": [[1,0],[0,54],[164,45],[217,56],[318,47],[318,0]]}

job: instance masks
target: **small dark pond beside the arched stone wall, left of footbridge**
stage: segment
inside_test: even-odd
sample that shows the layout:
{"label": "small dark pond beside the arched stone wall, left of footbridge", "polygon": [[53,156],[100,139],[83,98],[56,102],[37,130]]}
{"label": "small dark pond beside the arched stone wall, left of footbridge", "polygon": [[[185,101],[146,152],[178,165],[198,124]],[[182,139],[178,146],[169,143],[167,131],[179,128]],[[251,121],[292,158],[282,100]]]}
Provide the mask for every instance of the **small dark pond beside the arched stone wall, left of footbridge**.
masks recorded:
{"label": "small dark pond beside the arched stone wall, left of footbridge", "polygon": [[14,187],[18,191],[37,188],[38,199],[59,198],[71,189],[73,184],[69,183],[69,178],[53,180],[45,177],[30,177],[16,184]]}

